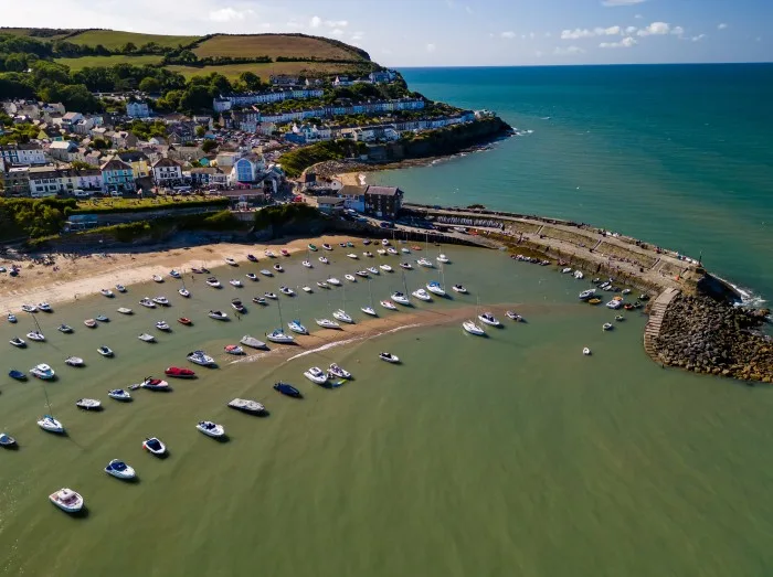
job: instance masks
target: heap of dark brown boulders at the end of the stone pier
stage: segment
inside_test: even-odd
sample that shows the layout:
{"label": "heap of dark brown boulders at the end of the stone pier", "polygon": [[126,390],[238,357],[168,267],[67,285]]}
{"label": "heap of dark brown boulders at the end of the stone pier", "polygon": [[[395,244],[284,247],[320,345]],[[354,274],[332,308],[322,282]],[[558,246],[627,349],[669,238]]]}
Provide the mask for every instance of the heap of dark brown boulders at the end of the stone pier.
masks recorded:
{"label": "heap of dark brown boulders at the end of the stone pier", "polygon": [[678,295],[653,339],[656,360],[696,373],[773,383],[773,339],[760,330],[769,312]]}

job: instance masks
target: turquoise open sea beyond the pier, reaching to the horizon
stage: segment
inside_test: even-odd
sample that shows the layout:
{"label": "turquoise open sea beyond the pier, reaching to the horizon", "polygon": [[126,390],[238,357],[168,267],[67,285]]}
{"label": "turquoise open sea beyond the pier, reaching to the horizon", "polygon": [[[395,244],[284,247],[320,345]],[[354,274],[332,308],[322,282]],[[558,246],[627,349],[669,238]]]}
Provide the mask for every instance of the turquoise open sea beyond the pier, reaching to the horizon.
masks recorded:
{"label": "turquoise open sea beyond the pier, reaching to the horizon", "polygon": [[587,222],[773,297],[773,64],[405,68],[430,98],[533,133],[378,173],[411,201]]}

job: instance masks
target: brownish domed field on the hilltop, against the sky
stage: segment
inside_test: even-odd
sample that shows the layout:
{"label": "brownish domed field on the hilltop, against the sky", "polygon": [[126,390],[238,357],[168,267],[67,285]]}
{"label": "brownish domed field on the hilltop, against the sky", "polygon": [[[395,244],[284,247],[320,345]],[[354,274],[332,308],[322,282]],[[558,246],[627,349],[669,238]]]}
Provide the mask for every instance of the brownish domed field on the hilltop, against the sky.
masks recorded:
{"label": "brownish domed field on the hilltop, against the sky", "polygon": [[337,60],[361,60],[356,52],[335,46],[322,40],[280,34],[254,36],[213,36],[194,51],[205,56],[292,56]]}

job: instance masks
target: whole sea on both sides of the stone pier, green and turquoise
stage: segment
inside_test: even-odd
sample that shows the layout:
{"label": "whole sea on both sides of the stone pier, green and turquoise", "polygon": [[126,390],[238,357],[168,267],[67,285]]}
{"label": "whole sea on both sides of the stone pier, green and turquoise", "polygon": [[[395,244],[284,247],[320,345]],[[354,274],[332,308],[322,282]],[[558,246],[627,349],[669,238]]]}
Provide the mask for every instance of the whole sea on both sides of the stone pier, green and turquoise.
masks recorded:
{"label": "whole sea on both sides of the stone pier, green and turquoise", "polygon": [[[404,70],[428,97],[496,110],[522,136],[427,167],[370,175],[430,204],[589,222],[696,256],[750,298],[773,295],[771,67],[653,66]],[[531,132],[530,132],[531,130]],[[286,270],[252,282],[258,264],[213,269],[220,290],[187,271],[179,282],[131,286],[0,322],[0,575],[29,576],[770,576],[773,574],[771,389],[663,368],[642,348],[646,317],[583,304],[589,286],[554,266],[502,252],[417,246],[362,256],[335,246],[283,259]],[[360,255],[358,260],[347,253]],[[415,259],[448,265],[433,269]],[[315,267],[300,261],[309,258]],[[400,261],[413,261],[402,274]],[[343,275],[389,264],[371,280]],[[22,273],[23,274],[23,273]],[[320,289],[335,276],[343,286]],[[243,279],[243,288],[226,284]],[[431,280],[432,302],[383,309],[396,290]],[[265,307],[252,297],[293,287]],[[311,286],[314,293],[299,287]],[[171,307],[139,306],[165,295]],[[241,298],[247,313],[230,308]],[[379,319],[360,308],[373,304]],[[130,307],[133,316],[116,312]],[[322,331],[316,318],[342,308],[356,325]],[[227,311],[229,322],[209,319]],[[505,311],[519,312],[512,322]],[[502,328],[466,334],[460,321],[493,311]],[[83,320],[109,322],[87,329]],[[193,320],[192,327],[176,322]],[[313,334],[293,348],[226,355],[243,334],[262,336],[298,319]],[[158,320],[172,332],[153,328]],[[36,321],[36,323],[35,323]],[[603,331],[612,322],[614,330]],[[56,330],[67,323],[75,330]],[[3,345],[40,325],[45,343]],[[367,332],[362,328],[368,327]],[[137,339],[157,335],[156,344]],[[96,349],[106,344],[114,359]],[[3,349],[4,346],[4,349]],[[590,348],[592,355],[582,354]],[[216,368],[191,365],[204,350]],[[284,349],[284,350],[283,350]],[[289,349],[289,350],[288,350]],[[378,359],[388,351],[401,364]],[[70,355],[86,366],[70,367]],[[303,376],[338,363],[353,380],[330,388]],[[50,364],[55,382],[12,381],[6,371]],[[172,391],[107,397],[167,366],[198,378]],[[299,388],[280,396],[273,384]],[[86,413],[78,398],[102,400]],[[264,403],[263,418],[234,398]],[[41,430],[52,413],[66,436]],[[224,442],[201,435],[222,424]],[[157,436],[166,459],[141,449]],[[110,459],[138,480],[104,473]],[[86,511],[49,502],[62,487]]]}

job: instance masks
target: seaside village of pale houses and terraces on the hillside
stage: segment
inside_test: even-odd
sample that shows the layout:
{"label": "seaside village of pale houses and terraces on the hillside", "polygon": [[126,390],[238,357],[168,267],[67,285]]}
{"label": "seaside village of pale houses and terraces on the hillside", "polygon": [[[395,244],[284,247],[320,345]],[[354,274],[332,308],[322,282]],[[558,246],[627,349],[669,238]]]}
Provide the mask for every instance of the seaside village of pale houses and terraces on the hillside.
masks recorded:
{"label": "seaside village of pale houses and terraces on the hillside", "polygon": [[[412,96],[402,86],[392,99],[335,98],[351,94],[347,88],[356,84],[390,85],[398,78],[393,71],[362,78],[272,76],[271,88],[220,95],[212,114],[193,116],[156,114],[153,95],[140,92],[96,95],[120,104],[120,110],[103,114],[6,100],[0,103],[0,194],[83,200],[219,194],[248,209],[295,189],[313,199],[321,194],[322,210],[364,211],[364,190],[356,191],[357,197],[349,190],[347,199],[335,179],[320,183],[304,174],[287,182],[279,157],[316,142],[349,140],[360,145],[357,161],[379,161],[385,143],[490,115]],[[14,139],[20,132],[27,137]]]}

